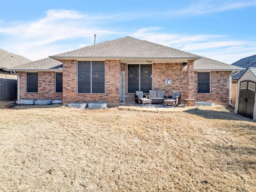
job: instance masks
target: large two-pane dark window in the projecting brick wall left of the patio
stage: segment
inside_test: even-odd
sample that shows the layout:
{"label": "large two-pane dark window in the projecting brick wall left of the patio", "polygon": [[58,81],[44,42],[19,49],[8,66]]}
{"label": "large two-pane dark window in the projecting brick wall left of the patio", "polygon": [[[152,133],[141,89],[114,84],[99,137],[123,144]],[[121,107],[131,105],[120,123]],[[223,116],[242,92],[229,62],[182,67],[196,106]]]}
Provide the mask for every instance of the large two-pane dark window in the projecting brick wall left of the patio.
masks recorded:
{"label": "large two-pane dark window in the projecting brick wall left of the patio", "polygon": [[78,61],[77,92],[105,93],[105,62]]}

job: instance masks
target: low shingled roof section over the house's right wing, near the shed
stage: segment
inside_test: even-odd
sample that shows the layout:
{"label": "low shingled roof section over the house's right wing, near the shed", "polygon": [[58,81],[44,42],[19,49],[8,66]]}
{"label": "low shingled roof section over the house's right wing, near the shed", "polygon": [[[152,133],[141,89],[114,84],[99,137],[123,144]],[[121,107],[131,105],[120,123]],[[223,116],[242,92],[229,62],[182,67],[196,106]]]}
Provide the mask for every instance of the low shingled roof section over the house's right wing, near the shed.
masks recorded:
{"label": "low shingled roof section over the house's right wing, near the shed", "polygon": [[[187,70],[187,65],[184,66],[184,70]],[[194,61],[194,70],[241,70],[240,67],[232,66],[220,61],[202,57]]]}

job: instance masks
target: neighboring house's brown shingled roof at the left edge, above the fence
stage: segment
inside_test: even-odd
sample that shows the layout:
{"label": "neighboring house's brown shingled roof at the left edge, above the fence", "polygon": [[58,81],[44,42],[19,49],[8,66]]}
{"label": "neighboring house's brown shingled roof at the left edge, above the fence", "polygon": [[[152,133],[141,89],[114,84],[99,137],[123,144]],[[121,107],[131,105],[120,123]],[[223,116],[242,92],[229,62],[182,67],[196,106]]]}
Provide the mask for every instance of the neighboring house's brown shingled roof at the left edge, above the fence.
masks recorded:
{"label": "neighboring house's brown shingled roof at the left edge, above the fence", "polygon": [[[11,57],[11,55],[13,57]],[[23,56],[12,54],[10,52],[0,49],[0,69],[12,68],[28,62],[31,62],[31,60]]]}

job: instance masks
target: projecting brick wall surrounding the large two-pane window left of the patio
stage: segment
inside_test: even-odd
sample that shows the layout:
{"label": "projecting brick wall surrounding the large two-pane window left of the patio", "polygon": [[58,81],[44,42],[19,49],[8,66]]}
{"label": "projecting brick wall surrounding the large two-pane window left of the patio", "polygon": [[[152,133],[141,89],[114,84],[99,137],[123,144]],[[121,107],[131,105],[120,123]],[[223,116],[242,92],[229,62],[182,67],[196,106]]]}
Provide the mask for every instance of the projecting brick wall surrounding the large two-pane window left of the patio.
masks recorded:
{"label": "projecting brick wall surrounding the large two-pane window left of the patio", "polygon": [[77,93],[77,61],[63,61],[63,102],[119,102],[119,60],[105,60],[105,94]]}

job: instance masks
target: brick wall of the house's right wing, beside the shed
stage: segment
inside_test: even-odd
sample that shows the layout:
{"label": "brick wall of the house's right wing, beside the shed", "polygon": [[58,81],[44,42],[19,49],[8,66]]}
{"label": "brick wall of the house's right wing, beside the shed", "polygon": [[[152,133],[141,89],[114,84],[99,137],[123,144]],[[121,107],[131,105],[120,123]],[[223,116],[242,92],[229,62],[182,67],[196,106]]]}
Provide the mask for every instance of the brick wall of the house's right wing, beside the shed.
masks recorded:
{"label": "brick wall of the house's right wing, beside the shed", "polygon": [[[229,102],[229,75],[231,71],[211,71],[211,93],[198,93],[198,101],[211,101],[219,104]],[[194,72],[194,96],[196,97],[197,72]]]}

